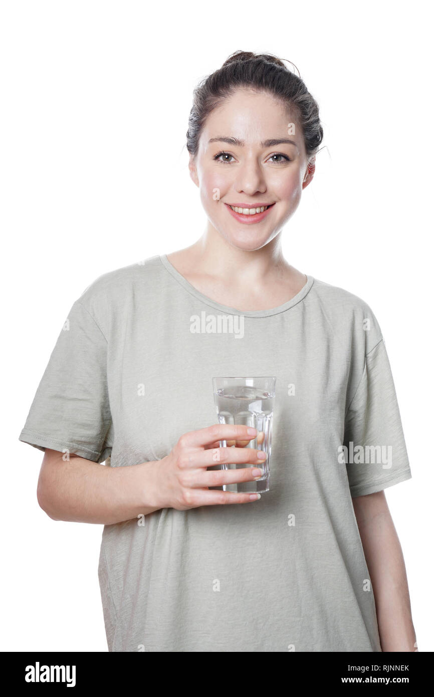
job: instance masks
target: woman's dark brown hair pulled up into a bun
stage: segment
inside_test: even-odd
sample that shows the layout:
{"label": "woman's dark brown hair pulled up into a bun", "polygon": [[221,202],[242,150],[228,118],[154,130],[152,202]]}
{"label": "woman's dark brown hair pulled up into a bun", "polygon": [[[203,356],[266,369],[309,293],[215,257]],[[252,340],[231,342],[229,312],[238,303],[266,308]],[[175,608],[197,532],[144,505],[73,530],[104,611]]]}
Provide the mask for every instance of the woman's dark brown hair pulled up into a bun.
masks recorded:
{"label": "woman's dark brown hair pulled up into a bun", "polygon": [[242,87],[268,91],[293,109],[294,118],[303,130],[304,146],[310,162],[318,152],[324,135],[316,100],[301,77],[288,70],[277,56],[247,51],[235,51],[224,61],[222,68],[203,78],[196,86],[187,130],[187,150],[190,155],[194,157],[198,151],[207,116]]}

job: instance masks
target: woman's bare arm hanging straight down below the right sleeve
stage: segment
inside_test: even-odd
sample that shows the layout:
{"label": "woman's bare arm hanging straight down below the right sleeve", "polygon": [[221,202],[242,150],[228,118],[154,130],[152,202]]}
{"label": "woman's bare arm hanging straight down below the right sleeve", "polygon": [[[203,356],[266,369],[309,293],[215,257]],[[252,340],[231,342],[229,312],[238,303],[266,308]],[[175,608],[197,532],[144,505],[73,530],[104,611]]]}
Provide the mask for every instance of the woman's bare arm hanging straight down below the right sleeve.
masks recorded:
{"label": "woman's bare arm hanging straight down below the right sleeve", "polygon": [[379,510],[375,498],[371,503],[369,510],[369,502],[365,502],[357,522],[375,597],[381,648],[384,652],[414,651],[416,636],[401,544],[387,504]]}

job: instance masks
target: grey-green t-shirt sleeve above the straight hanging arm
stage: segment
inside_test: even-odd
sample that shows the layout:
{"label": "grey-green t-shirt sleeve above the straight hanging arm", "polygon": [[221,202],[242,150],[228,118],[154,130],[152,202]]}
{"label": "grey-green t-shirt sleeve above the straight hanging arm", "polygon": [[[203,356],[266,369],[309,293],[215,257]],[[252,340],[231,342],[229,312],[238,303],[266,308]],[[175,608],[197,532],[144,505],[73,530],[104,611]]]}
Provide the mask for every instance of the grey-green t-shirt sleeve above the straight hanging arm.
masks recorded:
{"label": "grey-green t-shirt sleeve above the straight hanging arm", "polygon": [[346,413],[343,445],[352,497],[412,476],[383,339],[365,356],[364,372]]}

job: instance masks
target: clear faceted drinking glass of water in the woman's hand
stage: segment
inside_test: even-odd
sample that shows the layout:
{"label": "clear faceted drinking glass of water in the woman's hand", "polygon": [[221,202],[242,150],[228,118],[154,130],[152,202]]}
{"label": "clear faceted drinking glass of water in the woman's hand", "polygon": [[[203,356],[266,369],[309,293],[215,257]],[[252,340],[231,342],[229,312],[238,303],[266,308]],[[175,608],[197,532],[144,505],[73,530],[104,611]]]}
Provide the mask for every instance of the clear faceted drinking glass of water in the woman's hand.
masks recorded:
{"label": "clear faceted drinking glass of water in the woman's hand", "polygon": [[[258,443],[258,438],[252,438],[245,446],[254,450],[263,450],[266,459],[256,465],[247,463],[226,464],[222,463],[224,470],[236,470],[245,467],[258,467],[263,470],[261,479],[238,484],[224,484],[223,491],[236,491],[242,493],[263,493],[270,489],[270,458],[271,458],[271,431],[274,396],[276,388],[275,377],[251,377],[251,378],[212,378],[214,389],[214,402],[217,409],[217,422],[219,424],[242,424],[251,426],[259,432],[263,431],[263,441]],[[226,447],[226,441],[220,441],[220,447]],[[232,447],[236,447],[233,445]]]}

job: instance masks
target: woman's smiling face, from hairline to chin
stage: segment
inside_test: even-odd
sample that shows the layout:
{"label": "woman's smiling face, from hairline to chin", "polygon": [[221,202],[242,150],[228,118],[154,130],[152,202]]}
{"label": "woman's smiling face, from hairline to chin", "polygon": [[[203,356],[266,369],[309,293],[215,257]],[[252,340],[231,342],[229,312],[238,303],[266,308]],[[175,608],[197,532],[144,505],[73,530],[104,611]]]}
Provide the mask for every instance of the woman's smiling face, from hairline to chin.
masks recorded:
{"label": "woman's smiling face, from hairline to chin", "polygon": [[240,89],[206,119],[189,169],[212,226],[251,251],[281,231],[315,167],[290,111],[270,93]]}

